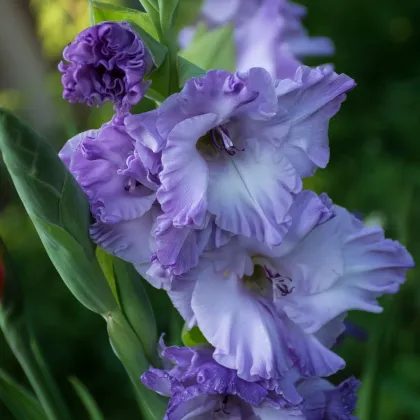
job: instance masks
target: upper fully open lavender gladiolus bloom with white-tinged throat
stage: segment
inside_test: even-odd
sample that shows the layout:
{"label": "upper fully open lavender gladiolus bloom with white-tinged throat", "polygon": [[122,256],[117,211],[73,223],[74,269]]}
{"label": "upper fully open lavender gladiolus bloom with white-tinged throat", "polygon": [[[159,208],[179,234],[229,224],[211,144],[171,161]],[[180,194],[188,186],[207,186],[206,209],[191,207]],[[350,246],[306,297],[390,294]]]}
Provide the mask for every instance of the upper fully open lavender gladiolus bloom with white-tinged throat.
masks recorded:
{"label": "upper fully open lavender gladiolus bloom with white-tinged throat", "polygon": [[[128,116],[128,133],[155,156],[149,169],[160,165],[159,233],[202,230],[214,220],[222,232],[278,245],[302,178],[328,162],[329,120],[353,86],[322,68],[300,67],[293,80],[275,83],[261,68],[215,70],[158,109]],[[165,266],[178,265],[172,249],[158,249]]]}

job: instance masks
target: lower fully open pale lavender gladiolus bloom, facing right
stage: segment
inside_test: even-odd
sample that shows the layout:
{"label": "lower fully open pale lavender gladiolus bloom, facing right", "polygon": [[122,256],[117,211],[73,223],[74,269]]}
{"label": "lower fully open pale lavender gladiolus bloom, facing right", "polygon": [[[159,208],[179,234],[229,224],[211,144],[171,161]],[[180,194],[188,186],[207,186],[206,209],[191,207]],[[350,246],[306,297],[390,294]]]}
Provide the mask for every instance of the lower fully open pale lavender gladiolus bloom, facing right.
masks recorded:
{"label": "lower fully open pale lavender gladiolus bloom, facing right", "polygon": [[[304,191],[282,244],[235,238],[175,278],[169,295],[215,360],[245,380],[326,377],[344,367],[330,348],[352,309],[381,312],[413,266],[399,243],[326,196]],[[241,249],[243,251],[241,251]],[[258,345],[256,345],[258,343]]]}

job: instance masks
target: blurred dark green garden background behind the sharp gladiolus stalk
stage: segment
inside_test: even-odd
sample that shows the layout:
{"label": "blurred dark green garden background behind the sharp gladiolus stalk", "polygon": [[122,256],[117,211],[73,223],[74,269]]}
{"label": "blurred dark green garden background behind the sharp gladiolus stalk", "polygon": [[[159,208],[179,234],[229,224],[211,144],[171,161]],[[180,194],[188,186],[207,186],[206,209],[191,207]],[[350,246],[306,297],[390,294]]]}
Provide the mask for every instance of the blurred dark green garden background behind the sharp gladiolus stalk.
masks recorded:
{"label": "blurred dark green garden background behind the sharp gladiolus stalk", "polygon": [[[114,1],[137,7],[137,0]],[[302,0],[312,35],[336,45],[338,72],[352,76],[350,92],[330,130],[331,163],[307,186],[381,223],[388,236],[420,257],[420,4],[415,0]],[[63,47],[88,25],[87,0],[0,1],[0,106],[12,109],[59,150],[79,131],[109,119],[111,107],[89,109],[61,98],[56,66]],[[316,64],[310,62],[308,64]],[[125,373],[114,357],[98,316],[71,296],[49,262],[0,163],[0,236],[13,255],[31,324],[54,375],[83,419],[68,383],[77,376],[107,419],[137,418]],[[410,272],[399,295],[383,299],[381,315],[351,314],[368,339],[349,337],[338,348],[347,360],[337,380],[364,381],[361,404],[373,402],[375,418],[420,419],[420,287]],[[161,330],[168,328],[167,300],[154,293]],[[26,380],[0,337],[0,366]],[[0,402],[0,418],[9,420]],[[362,420],[370,420],[365,415]],[[30,420],[30,419],[29,419]]]}

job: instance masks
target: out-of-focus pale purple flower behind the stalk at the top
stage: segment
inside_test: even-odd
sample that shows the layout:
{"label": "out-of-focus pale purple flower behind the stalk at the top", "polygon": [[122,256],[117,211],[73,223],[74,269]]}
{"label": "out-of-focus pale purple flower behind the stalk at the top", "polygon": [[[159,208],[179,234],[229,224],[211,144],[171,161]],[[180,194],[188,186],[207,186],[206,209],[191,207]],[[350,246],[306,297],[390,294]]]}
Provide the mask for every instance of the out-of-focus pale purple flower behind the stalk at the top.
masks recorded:
{"label": "out-of-focus pale purple flower behind the stalk at the top", "polygon": [[[233,23],[238,70],[263,67],[278,78],[293,77],[305,57],[334,52],[328,38],[308,36],[302,25],[305,15],[305,7],[287,0],[206,0],[201,12],[210,28]],[[181,32],[182,47],[194,32],[192,27]]]}

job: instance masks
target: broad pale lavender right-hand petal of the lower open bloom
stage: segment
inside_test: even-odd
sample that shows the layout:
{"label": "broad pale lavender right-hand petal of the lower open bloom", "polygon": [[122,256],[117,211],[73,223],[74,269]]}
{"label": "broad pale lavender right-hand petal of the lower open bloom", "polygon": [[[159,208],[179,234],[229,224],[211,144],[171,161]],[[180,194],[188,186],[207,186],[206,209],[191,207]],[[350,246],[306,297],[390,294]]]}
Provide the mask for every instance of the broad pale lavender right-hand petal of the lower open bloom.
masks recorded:
{"label": "broad pale lavender right-hand petal of the lower open bloom", "polygon": [[279,305],[307,333],[317,332],[348,310],[381,312],[376,299],[396,293],[413,266],[406,249],[384,239],[382,229],[365,227],[341,207],[333,209],[333,219],[279,261],[289,270],[301,267],[296,294]]}

